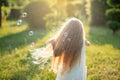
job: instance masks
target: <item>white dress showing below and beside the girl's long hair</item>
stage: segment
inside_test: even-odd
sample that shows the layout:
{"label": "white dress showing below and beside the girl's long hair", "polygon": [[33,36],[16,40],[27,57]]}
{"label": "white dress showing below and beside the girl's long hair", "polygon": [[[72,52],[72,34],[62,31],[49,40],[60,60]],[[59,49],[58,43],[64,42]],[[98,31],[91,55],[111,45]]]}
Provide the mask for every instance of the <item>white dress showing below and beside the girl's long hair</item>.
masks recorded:
{"label": "white dress showing below and beside the girl's long hair", "polygon": [[65,75],[61,75],[61,67],[57,72],[56,80],[86,80],[87,67],[86,67],[86,55],[85,55],[85,43],[83,43],[80,63],[76,64]]}

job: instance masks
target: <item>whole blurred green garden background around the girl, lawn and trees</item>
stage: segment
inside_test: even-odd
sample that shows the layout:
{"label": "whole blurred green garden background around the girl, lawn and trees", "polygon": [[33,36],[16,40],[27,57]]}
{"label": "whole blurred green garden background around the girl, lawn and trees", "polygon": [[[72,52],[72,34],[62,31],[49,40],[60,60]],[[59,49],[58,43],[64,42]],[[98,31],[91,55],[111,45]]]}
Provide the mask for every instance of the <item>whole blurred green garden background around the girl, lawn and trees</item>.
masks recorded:
{"label": "whole blurred green garden background around the girl, lawn and trees", "polygon": [[55,80],[51,58],[41,69],[30,50],[44,47],[71,17],[91,42],[87,80],[120,80],[120,0],[1,0],[0,80]]}

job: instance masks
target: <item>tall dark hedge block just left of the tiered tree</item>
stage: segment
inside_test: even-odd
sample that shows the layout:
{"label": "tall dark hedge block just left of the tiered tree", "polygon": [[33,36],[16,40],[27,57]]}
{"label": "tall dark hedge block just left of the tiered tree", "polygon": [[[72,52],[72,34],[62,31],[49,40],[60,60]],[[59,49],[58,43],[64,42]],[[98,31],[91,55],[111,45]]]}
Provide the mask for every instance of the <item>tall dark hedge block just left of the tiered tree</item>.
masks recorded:
{"label": "tall dark hedge block just left of the tiered tree", "polygon": [[91,24],[104,25],[106,22],[105,11],[108,8],[106,0],[91,0]]}

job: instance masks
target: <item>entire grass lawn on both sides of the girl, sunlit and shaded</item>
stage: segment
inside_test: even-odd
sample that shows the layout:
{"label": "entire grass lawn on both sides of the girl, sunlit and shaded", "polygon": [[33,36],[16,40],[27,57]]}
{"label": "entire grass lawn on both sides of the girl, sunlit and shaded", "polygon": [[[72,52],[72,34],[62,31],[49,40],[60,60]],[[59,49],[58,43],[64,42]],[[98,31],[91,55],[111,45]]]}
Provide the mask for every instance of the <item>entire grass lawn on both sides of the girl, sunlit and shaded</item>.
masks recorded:
{"label": "entire grass lawn on both sides of the girl, sunlit and shaded", "polygon": [[[40,69],[29,54],[30,49],[44,46],[55,29],[28,30],[27,25],[6,23],[0,29],[0,80],[55,80],[49,64]],[[88,26],[85,32],[91,42],[86,47],[87,80],[120,80],[120,32],[113,35],[108,28]]]}

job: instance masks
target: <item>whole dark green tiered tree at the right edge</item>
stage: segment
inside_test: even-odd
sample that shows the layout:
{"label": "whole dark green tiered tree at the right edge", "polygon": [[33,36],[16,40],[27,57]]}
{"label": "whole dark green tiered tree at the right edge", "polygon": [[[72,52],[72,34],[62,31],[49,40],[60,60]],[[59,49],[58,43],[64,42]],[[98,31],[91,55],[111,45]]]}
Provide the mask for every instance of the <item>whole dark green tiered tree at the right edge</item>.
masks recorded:
{"label": "whole dark green tiered tree at the right edge", "polygon": [[120,29],[120,0],[107,0],[110,9],[106,10],[107,26],[115,33]]}

